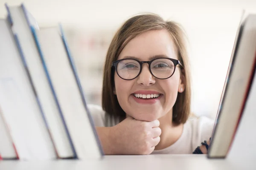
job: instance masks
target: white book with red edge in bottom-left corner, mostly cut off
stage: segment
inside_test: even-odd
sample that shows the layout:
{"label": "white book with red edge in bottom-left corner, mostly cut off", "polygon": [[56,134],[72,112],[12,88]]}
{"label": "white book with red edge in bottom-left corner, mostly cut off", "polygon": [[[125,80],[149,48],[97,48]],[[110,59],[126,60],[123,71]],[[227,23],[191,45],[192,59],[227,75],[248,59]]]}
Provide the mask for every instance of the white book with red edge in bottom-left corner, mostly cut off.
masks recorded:
{"label": "white book with red edge in bottom-left corner, mostly cut off", "polygon": [[[1,29],[0,20],[0,29]],[[3,112],[0,108],[0,155],[3,159],[17,159],[15,145],[12,142],[8,126],[4,120]]]}

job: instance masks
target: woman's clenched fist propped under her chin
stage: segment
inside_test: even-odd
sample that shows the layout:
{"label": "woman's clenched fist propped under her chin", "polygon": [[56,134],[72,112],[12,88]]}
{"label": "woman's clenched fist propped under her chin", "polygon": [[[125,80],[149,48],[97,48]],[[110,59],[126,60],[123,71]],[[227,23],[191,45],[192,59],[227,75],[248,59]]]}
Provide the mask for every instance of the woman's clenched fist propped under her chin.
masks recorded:
{"label": "woman's clenched fist propped under her chin", "polygon": [[160,142],[160,122],[140,121],[128,116],[111,127],[115,154],[148,155]]}

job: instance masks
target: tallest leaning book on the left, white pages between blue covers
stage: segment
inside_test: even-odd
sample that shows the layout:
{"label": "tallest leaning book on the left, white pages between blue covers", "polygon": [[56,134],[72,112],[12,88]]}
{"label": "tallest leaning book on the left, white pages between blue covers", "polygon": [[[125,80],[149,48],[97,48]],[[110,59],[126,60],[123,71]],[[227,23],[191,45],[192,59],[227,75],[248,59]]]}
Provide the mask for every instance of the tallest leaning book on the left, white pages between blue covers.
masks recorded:
{"label": "tallest leaning book on the left, white pages between blue covers", "polygon": [[55,98],[51,82],[42,65],[40,51],[38,51],[33,31],[39,29],[35,18],[26,10],[25,6],[9,6],[12,18],[12,31],[19,39],[22,55],[26,62],[28,74],[31,77],[42,116],[48,127],[49,134],[55,146],[58,158],[72,158],[75,150],[65,126],[58,100]]}

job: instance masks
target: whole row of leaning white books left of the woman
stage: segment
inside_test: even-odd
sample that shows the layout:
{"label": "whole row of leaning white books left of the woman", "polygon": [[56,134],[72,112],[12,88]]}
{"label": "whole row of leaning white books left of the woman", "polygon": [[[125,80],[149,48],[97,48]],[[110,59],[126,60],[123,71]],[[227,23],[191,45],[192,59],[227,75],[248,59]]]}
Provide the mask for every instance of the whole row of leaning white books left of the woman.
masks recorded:
{"label": "whole row of leaning white books left of the woman", "polygon": [[0,19],[0,159],[101,158],[61,25],[39,28],[25,8]]}

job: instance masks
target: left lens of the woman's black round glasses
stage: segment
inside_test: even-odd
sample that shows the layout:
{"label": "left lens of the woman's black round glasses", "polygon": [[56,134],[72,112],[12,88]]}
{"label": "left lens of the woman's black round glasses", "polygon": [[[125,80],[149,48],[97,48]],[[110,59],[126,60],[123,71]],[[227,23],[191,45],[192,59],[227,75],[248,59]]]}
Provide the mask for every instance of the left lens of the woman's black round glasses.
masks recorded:
{"label": "left lens of the woman's black round glasses", "polygon": [[134,59],[124,59],[117,65],[117,74],[123,79],[134,79],[140,73],[140,63]]}

